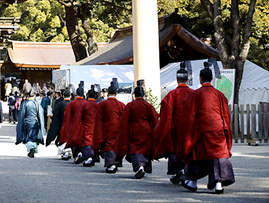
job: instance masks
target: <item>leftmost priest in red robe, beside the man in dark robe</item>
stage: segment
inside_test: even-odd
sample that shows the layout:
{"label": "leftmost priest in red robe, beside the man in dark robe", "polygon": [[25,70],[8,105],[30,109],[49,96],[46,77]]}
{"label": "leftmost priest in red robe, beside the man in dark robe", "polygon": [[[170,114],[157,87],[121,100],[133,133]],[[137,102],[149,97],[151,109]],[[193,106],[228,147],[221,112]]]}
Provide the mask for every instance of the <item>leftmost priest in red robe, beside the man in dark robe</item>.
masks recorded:
{"label": "leftmost priest in red robe, beside the man in dark robe", "polygon": [[70,101],[69,104],[64,108],[64,122],[62,124],[61,131],[59,132],[61,135],[59,146],[66,143],[65,148],[71,148],[74,163],[76,164],[79,164],[84,160],[82,157],[81,148],[79,148],[84,130],[82,114],[86,100],[83,96],[84,89],[81,87],[76,89],[76,99]]}

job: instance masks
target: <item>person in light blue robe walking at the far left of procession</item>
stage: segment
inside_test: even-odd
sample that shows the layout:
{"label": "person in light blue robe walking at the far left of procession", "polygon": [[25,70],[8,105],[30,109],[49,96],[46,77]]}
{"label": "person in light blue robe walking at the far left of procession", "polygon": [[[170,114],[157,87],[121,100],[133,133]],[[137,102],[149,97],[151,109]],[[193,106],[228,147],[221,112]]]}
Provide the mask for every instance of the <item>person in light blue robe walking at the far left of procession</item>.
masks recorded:
{"label": "person in light blue robe walking at the far left of procession", "polygon": [[30,158],[34,158],[34,154],[38,153],[39,143],[44,145],[44,115],[42,106],[35,101],[37,91],[35,84],[30,92],[28,92],[29,98],[21,105],[16,128],[16,145],[24,143],[28,150],[28,157]]}

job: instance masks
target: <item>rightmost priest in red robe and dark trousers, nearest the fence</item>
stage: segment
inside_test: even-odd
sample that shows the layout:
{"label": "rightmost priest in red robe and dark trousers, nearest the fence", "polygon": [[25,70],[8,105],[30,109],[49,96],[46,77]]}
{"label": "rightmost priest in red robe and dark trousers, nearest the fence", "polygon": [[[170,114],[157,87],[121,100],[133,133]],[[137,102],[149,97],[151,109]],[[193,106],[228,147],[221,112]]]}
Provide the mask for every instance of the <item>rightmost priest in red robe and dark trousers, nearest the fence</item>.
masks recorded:
{"label": "rightmost priest in red robe and dark trousers, nearest the fence", "polygon": [[222,194],[224,186],[234,183],[231,166],[231,126],[228,101],[222,92],[214,89],[212,71],[207,62],[200,71],[202,87],[189,94],[183,102],[179,122],[177,158],[185,158],[188,190],[195,192],[197,180],[209,176],[207,188]]}

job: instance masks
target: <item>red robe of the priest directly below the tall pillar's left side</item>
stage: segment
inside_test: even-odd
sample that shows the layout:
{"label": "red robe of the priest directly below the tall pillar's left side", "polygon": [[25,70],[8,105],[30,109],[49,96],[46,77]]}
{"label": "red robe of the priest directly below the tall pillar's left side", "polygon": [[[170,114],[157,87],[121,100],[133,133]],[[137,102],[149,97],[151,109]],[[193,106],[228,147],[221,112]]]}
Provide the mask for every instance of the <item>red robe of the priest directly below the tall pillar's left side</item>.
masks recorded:
{"label": "red robe of the priest directly below the tall pillar's left side", "polygon": [[154,107],[141,97],[127,104],[120,118],[116,160],[134,153],[151,157],[152,132],[158,119]]}

